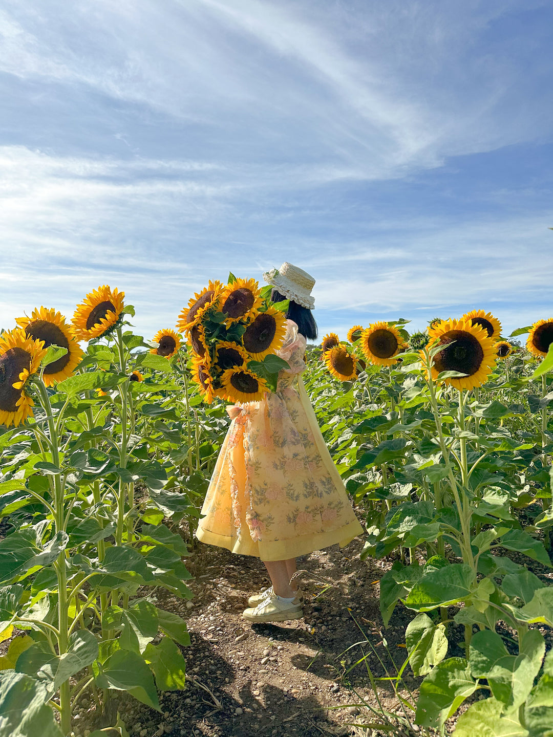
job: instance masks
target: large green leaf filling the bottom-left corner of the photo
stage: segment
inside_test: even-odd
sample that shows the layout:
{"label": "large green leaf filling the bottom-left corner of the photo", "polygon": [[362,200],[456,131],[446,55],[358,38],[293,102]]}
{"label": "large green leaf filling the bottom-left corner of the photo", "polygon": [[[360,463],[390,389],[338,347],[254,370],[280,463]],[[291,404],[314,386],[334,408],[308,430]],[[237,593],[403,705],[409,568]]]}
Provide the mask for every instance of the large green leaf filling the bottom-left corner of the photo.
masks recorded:
{"label": "large green leaf filling the bottom-left corner of the photo", "polygon": [[41,682],[23,673],[0,672],[0,737],[63,737]]}

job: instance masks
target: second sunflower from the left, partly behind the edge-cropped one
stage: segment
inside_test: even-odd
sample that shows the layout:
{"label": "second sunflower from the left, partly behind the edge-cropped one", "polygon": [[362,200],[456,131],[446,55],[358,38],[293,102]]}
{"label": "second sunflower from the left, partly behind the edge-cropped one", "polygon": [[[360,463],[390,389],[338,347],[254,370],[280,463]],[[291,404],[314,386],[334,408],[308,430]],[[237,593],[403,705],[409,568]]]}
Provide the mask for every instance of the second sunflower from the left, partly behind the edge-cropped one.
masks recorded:
{"label": "second sunflower from the left, partly behind the edge-cropped one", "polygon": [[15,318],[15,322],[29,338],[42,340],[44,348],[60,346],[67,350],[64,356],[44,368],[42,378],[46,386],[71,376],[83,358],[83,351],[75,339],[72,326],[66,324],[66,318],[60,312],[41,307],[40,310],[32,310],[30,317]]}

